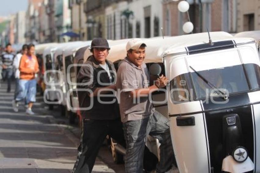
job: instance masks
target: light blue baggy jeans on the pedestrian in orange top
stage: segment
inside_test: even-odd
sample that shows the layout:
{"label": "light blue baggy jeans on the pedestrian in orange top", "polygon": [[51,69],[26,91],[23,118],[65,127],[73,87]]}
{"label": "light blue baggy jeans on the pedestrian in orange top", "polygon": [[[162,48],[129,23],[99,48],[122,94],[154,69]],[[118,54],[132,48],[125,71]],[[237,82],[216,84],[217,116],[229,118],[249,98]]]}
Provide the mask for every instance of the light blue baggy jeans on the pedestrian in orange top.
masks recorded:
{"label": "light blue baggy jeans on the pedestrian in orange top", "polygon": [[16,96],[16,101],[21,101],[26,98],[26,103],[36,101],[36,79],[19,80],[19,93]]}

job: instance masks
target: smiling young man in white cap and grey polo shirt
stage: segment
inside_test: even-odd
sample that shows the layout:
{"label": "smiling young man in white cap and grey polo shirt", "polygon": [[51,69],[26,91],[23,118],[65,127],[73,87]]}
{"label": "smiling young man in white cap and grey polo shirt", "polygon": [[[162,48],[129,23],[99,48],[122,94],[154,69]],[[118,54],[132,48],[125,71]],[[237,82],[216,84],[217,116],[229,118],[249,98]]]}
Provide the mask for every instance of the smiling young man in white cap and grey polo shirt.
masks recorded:
{"label": "smiling young man in white cap and grey polo shirt", "polygon": [[117,71],[119,107],[126,140],[125,170],[127,173],[143,171],[143,151],[147,135],[158,138],[160,161],[156,172],[166,172],[175,167],[175,157],[170,138],[169,121],[154,110],[148,95],[165,87],[168,79],[160,76],[150,86],[150,74],[145,58],[146,44],[141,39],[131,39],[126,45],[127,57]]}

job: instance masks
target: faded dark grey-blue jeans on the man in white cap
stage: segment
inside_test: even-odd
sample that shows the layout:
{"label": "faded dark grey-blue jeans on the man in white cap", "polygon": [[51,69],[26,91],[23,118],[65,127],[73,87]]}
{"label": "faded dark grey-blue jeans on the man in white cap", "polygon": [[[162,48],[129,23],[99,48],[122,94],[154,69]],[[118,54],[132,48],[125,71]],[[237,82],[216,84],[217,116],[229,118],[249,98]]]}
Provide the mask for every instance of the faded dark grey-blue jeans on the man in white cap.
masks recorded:
{"label": "faded dark grey-blue jeans on the man in white cap", "polygon": [[169,120],[154,111],[149,118],[131,120],[123,123],[126,141],[125,171],[126,173],[143,172],[143,153],[147,135],[157,138],[160,145],[160,161],[156,165],[157,172],[168,171],[176,165],[170,136]]}

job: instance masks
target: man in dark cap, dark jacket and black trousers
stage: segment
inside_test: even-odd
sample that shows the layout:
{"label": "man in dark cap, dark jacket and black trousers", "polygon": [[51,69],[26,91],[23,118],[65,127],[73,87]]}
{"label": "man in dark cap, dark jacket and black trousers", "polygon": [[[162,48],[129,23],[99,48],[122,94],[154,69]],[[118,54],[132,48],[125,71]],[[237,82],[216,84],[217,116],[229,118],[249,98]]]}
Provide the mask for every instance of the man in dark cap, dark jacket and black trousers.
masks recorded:
{"label": "man in dark cap, dark jacket and black trousers", "polygon": [[[106,60],[110,47],[106,39],[91,42],[91,53],[77,76],[82,132],[72,173],[90,173],[98,150],[107,135],[124,145],[124,133],[115,93],[116,70]],[[107,96],[107,97],[106,97]],[[110,96],[110,97],[109,97]],[[90,107],[91,109],[86,110]],[[83,110],[85,109],[85,110]]]}

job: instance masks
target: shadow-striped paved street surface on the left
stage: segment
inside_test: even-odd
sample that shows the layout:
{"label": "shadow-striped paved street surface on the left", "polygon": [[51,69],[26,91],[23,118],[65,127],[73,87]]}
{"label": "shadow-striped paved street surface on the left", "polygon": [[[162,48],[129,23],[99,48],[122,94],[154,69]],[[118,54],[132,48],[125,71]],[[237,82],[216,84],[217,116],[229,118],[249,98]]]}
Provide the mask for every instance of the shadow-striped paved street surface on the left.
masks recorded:
{"label": "shadow-striped paved street surface on the left", "polygon": [[[0,87],[0,173],[69,173],[77,155],[79,138],[65,125],[58,124],[37,97],[34,116],[11,107],[12,92]],[[97,159],[92,172],[114,172]]]}

